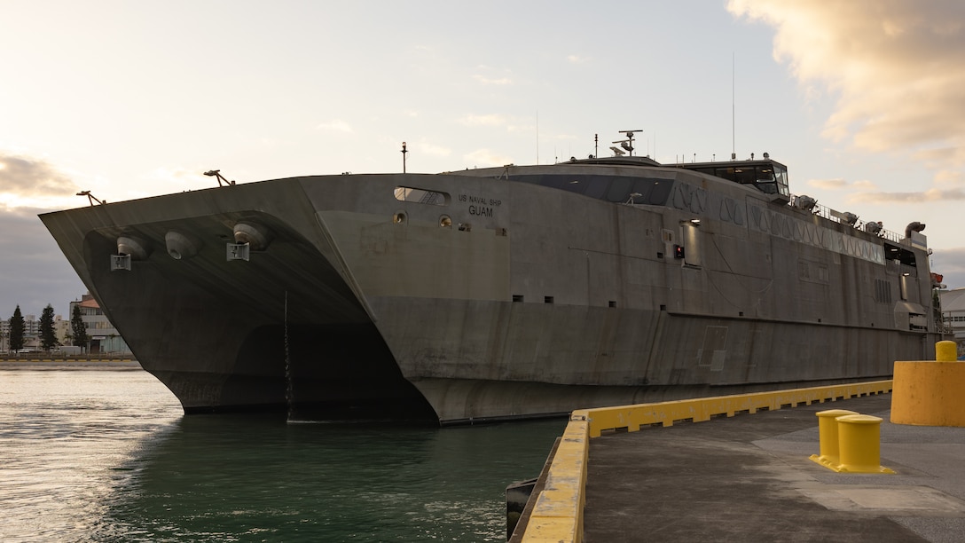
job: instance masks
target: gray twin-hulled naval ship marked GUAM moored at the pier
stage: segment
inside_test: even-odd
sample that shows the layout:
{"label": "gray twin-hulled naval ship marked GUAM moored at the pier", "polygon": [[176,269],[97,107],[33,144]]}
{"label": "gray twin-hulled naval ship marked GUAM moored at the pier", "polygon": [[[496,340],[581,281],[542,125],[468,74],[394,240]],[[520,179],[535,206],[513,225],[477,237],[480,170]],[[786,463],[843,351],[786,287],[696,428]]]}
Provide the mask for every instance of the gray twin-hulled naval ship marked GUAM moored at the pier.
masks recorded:
{"label": "gray twin-hulled naval ship marked GUAM moored at the pier", "polygon": [[794,196],[766,154],[661,165],[628,135],[629,156],[225,181],[41,219],[187,414],[466,423],[933,358],[924,225]]}

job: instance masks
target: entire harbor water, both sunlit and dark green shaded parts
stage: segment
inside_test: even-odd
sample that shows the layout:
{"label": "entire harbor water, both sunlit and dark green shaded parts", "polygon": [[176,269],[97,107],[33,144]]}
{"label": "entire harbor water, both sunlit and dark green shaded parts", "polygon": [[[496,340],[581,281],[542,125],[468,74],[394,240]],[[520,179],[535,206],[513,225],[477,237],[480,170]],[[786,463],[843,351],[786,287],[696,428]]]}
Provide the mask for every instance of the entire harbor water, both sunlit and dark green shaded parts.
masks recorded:
{"label": "entire harbor water, both sunlit and dark green shaded parts", "polygon": [[564,420],[184,417],[142,371],[0,371],[0,540],[505,541]]}

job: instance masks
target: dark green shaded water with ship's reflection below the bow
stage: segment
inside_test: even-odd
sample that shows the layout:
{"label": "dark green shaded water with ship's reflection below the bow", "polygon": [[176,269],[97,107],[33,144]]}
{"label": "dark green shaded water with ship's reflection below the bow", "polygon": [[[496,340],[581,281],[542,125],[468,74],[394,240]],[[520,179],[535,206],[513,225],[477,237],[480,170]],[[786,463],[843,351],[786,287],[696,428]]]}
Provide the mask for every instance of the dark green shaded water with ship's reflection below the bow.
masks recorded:
{"label": "dark green shaded water with ship's reflection below the bow", "polygon": [[[474,428],[186,417],[129,464],[98,538],[502,541],[503,493],[562,421]],[[102,536],[102,537],[101,537]]]}

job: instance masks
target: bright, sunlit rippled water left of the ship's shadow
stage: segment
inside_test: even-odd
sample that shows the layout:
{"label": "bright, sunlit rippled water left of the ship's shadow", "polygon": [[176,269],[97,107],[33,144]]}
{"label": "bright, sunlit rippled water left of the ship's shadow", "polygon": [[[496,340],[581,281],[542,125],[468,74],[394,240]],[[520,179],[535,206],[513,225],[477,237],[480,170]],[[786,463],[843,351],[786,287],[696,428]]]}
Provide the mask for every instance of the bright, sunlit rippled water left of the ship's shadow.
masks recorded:
{"label": "bright, sunlit rippled water left of the ship's shadow", "polygon": [[143,372],[0,371],[0,539],[85,539],[130,482],[114,469],[180,416],[159,386]]}

